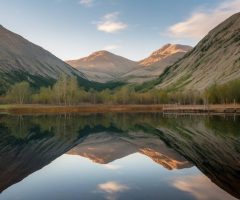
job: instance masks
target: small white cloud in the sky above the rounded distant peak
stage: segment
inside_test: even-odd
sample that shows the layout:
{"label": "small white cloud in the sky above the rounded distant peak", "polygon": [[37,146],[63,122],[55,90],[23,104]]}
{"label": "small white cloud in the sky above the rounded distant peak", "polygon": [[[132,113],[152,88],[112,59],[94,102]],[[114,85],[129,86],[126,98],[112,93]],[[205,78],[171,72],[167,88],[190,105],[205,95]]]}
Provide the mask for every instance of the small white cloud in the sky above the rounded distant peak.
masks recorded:
{"label": "small white cloud in the sky above the rounded distant peak", "polygon": [[119,21],[119,13],[106,14],[101,21],[97,22],[97,29],[106,33],[116,33],[127,28],[127,24]]}

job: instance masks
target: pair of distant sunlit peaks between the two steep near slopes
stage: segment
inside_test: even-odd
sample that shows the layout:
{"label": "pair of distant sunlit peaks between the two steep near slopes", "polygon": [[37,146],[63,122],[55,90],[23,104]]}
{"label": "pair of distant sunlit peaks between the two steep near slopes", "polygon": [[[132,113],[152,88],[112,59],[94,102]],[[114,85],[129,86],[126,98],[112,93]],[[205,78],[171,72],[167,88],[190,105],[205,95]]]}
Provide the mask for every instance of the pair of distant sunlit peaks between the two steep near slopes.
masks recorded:
{"label": "pair of distant sunlit peaks between the two steep near slopes", "polygon": [[185,45],[167,44],[139,62],[108,51],[98,51],[88,57],[66,62],[83,72],[89,80],[143,82],[157,78],[166,67],[182,58],[191,48]]}

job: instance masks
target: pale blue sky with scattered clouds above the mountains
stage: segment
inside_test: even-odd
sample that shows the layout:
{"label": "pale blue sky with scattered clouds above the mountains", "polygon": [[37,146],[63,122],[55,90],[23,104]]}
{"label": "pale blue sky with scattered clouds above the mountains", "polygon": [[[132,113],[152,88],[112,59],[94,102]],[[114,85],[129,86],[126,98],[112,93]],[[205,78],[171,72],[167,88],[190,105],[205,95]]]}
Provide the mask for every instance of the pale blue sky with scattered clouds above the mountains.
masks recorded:
{"label": "pale blue sky with scattered clouds above the mountains", "polygon": [[196,45],[240,0],[0,0],[0,24],[63,60],[108,50],[141,60]]}

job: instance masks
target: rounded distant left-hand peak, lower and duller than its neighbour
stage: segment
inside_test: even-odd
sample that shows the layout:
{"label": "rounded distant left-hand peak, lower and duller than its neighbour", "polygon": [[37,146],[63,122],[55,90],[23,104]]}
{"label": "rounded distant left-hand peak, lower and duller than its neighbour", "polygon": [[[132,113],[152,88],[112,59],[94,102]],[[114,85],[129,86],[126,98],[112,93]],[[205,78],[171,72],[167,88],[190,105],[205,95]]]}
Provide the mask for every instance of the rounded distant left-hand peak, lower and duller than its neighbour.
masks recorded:
{"label": "rounded distant left-hand peak, lower and duller than its neighbour", "polygon": [[98,51],[88,57],[66,62],[86,74],[89,80],[97,82],[116,80],[121,75],[139,68],[136,62],[108,51]]}

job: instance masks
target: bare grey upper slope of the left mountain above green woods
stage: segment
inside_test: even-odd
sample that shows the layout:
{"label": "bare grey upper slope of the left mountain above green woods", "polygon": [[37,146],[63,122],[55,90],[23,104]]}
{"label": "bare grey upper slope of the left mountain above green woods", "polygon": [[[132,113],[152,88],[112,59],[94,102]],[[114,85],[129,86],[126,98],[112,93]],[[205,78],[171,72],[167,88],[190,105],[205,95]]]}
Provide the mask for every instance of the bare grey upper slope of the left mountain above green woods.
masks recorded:
{"label": "bare grey upper slope of the left mountain above green woods", "polygon": [[[1,71],[21,69],[23,71],[28,70],[28,72],[30,71],[31,73],[37,72],[40,75],[45,75],[45,76],[47,75],[53,78],[56,78],[57,76],[57,74],[55,73],[58,73],[59,71],[62,71],[62,70],[69,75],[71,73],[83,75],[80,72],[77,72],[72,67],[70,67],[70,65],[64,63],[62,60],[57,58],[55,55],[53,55],[49,51],[26,40],[24,37],[12,31],[9,31],[8,29],[4,28],[2,25],[0,26],[0,37],[2,38],[0,42],[1,63],[5,61],[5,63],[8,64],[7,62],[9,62],[8,59],[10,58],[13,58],[14,60],[13,63],[9,63],[9,65],[6,65],[6,66],[3,66],[1,64],[1,68],[0,68]],[[33,55],[35,56],[35,58],[32,57]],[[46,63],[53,64],[51,67],[49,67],[49,71],[55,72],[55,73],[49,73],[49,71],[48,73],[45,73],[43,70],[41,71],[41,68],[39,65],[37,65],[35,69],[33,69],[33,67],[30,65],[31,63],[28,63],[27,61],[23,60],[21,56],[25,56],[25,58],[28,58],[28,59],[37,59],[36,56],[41,56],[41,58],[46,57],[48,59]],[[55,61],[56,63],[53,63],[53,61]],[[10,64],[22,64],[22,66],[10,65]]]}

